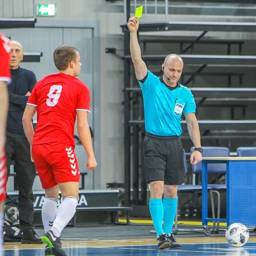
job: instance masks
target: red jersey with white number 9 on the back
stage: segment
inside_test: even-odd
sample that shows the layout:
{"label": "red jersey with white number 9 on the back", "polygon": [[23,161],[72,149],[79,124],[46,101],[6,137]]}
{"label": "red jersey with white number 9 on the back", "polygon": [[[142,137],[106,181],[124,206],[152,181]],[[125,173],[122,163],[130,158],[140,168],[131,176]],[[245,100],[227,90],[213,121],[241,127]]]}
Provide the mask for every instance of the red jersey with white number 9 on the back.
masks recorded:
{"label": "red jersey with white number 9 on the back", "polygon": [[90,92],[86,84],[63,73],[38,81],[27,104],[37,107],[33,144],[74,141],[76,111],[90,112]]}

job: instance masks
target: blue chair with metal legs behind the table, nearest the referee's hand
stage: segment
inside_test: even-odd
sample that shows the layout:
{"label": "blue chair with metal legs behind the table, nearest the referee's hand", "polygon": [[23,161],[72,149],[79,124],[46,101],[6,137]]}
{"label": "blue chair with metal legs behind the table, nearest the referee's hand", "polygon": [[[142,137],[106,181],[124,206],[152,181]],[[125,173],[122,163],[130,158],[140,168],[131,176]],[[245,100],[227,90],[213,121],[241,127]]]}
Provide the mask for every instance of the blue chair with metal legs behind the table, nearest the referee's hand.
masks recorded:
{"label": "blue chair with metal legs behind the table, nearest the referee's hand", "polygon": [[[202,146],[203,148],[203,157],[230,157],[230,152],[227,147],[219,146]],[[190,153],[194,152],[195,147],[190,148]],[[192,165],[193,173],[199,174],[202,173],[202,162]],[[226,174],[226,164],[225,163],[211,163],[207,165],[208,174]],[[217,206],[217,218],[220,218],[221,211],[221,200],[219,191],[226,191],[226,184],[208,184],[211,188],[210,191],[215,193],[218,197],[218,206]],[[220,222],[217,221],[216,232],[219,232]],[[215,226],[215,223],[214,223]]]}

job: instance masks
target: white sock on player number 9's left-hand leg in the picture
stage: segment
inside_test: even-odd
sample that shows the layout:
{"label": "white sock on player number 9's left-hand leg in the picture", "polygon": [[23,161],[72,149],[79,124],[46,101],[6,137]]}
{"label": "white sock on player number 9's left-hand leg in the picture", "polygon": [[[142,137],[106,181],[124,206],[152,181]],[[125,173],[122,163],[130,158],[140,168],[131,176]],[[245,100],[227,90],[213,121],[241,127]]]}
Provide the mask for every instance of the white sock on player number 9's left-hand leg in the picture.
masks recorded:
{"label": "white sock on player number 9's left-hand leg in the picture", "polygon": [[42,225],[44,225],[45,232],[48,232],[52,227],[56,217],[57,204],[58,199],[50,197],[45,197],[44,203],[42,203]]}

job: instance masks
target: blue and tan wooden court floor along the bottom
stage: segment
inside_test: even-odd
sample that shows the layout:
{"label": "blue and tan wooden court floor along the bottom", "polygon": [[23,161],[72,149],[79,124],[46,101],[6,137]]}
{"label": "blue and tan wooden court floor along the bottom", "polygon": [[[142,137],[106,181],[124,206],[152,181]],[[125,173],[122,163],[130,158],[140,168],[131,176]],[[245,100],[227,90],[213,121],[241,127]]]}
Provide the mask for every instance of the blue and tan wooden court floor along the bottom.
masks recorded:
{"label": "blue and tan wooden court floor along the bottom", "polygon": [[[62,240],[67,255],[256,255],[256,236],[250,236],[243,247],[229,245],[225,237],[186,237],[177,238],[183,244],[181,249],[161,250],[156,246],[156,239],[122,239],[122,240]],[[43,256],[45,245],[4,244],[5,255]],[[103,251],[102,251],[103,250]],[[123,252],[125,251],[125,253]],[[174,251],[174,252],[171,252]]]}

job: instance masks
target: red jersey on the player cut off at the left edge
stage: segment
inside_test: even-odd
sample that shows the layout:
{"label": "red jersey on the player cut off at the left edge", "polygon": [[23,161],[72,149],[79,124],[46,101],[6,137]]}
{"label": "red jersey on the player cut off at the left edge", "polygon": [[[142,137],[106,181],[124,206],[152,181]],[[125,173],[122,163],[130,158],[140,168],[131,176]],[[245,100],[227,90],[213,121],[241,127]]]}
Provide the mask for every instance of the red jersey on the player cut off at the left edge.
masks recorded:
{"label": "red jersey on the player cut off at the left edge", "polygon": [[9,39],[0,34],[0,81],[11,82]]}

